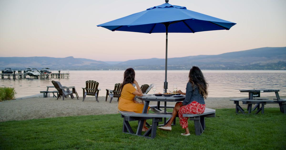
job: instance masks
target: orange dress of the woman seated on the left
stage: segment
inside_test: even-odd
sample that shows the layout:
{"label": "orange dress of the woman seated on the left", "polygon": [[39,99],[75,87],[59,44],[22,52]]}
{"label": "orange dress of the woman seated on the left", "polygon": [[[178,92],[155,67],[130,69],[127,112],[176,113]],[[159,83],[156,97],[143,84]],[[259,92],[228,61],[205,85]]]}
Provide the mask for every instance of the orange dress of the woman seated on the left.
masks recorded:
{"label": "orange dress of the woman seated on the left", "polygon": [[[136,89],[133,87],[132,84],[128,83],[124,85],[121,92],[121,96],[119,98],[118,110],[142,113],[144,104],[137,104],[133,102],[133,99],[136,95],[132,93],[135,91]],[[149,108],[150,107],[148,107],[148,109]]]}

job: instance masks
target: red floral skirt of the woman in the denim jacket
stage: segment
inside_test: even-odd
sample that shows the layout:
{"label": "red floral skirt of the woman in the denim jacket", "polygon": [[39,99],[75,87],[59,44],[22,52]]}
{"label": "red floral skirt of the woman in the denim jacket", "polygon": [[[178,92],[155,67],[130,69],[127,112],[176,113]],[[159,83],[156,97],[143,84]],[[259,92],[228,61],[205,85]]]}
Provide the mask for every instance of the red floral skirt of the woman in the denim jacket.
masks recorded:
{"label": "red floral skirt of the woman in the denim jacket", "polygon": [[206,108],[206,104],[200,104],[196,101],[192,101],[188,105],[182,106],[178,111],[178,116],[180,119],[180,125],[183,129],[188,128],[189,117],[183,117],[183,114],[202,114]]}

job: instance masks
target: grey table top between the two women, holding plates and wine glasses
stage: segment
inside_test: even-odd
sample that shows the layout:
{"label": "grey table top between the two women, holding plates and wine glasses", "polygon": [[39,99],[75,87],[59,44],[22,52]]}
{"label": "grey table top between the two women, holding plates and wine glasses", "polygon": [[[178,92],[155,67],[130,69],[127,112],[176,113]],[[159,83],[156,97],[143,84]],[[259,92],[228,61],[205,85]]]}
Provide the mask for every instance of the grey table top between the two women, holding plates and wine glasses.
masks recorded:
{"label": "grey table top between the two women, holding plates and wine glasses", "polygon": [[161,102],[179,102],[183,101],[186,96],[173,97],[173,96],[138,96],[138,99],[145,101],[161,101]]}

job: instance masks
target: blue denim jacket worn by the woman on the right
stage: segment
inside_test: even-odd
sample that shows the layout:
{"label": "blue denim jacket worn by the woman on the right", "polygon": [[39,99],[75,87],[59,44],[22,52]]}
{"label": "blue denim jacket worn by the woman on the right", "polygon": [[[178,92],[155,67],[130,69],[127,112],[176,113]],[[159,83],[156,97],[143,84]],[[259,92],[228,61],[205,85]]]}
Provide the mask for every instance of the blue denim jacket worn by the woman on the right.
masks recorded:
{"label": "blue denim jacket worn by the woman on the right", "polygon": [[204,97],[200,94],[198,87],[194,85],[193,88],[192,83],[188,82],[186,87],[186,98],[183,101],[183,105],[188,105],[192,101],[196,101],[200,104],[205,104]]}

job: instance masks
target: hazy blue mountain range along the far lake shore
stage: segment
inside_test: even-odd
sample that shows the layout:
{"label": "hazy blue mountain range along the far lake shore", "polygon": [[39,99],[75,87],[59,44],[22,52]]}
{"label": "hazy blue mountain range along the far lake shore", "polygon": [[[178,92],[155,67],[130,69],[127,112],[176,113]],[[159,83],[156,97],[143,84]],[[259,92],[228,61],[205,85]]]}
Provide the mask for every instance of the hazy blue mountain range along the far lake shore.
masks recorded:
{"label": "hazy blue mountain range along the far lake shore", "polygon": [[[168,69],[188,70],[196,65],[213,70],[286,70],[286,47],[265,47],[219,55],[198,55],[168,58]],[[164,70],[165,59],[128,61],[96,61],[85,58],[0,57],[0,69],[13,70],[49,67],[52,70]]]}

